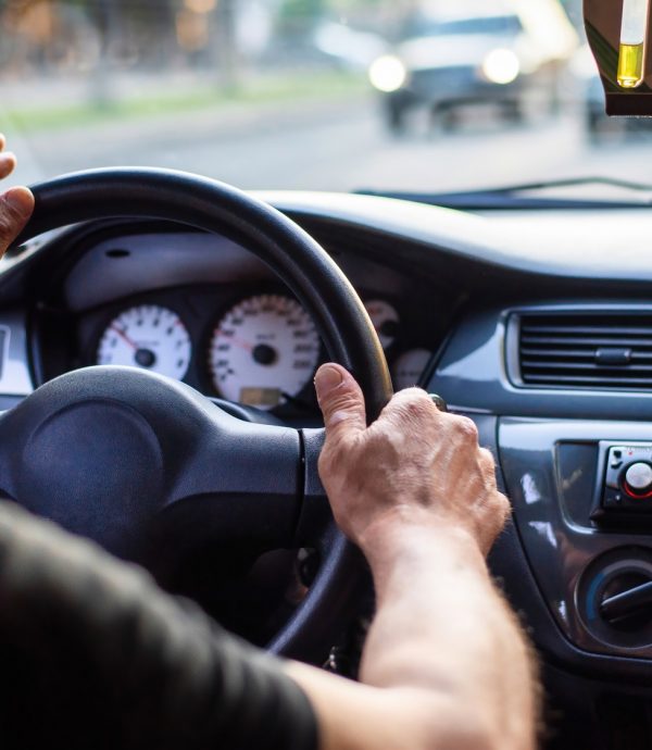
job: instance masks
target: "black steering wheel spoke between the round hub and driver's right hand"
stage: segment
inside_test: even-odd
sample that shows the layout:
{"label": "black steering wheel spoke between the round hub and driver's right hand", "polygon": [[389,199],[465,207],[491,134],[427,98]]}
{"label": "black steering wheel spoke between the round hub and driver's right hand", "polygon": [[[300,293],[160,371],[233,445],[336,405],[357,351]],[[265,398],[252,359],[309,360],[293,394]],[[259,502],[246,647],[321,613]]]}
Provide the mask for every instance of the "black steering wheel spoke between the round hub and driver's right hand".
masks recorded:
{"label": "black steering wheel spoke between the round hub and driver's right hand", "polygon": [[155,522],[178,551],[291,547],[302,495],[301,440],[290,427],[243,423],[217,407]]}

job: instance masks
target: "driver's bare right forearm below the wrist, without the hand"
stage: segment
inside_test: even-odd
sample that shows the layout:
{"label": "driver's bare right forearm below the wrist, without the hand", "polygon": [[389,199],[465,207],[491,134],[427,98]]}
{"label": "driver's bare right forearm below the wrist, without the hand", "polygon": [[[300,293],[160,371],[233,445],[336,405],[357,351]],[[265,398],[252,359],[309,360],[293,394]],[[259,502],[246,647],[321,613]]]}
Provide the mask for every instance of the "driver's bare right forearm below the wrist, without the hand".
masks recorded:
{"label": "driver's bare right forearm below the wrist, without the hand", "polygon": [[362,546],[377,596],[362,682],[449,698],[496,747],[535,747],[535,665],[473,538],[431,517],[391,517]]}

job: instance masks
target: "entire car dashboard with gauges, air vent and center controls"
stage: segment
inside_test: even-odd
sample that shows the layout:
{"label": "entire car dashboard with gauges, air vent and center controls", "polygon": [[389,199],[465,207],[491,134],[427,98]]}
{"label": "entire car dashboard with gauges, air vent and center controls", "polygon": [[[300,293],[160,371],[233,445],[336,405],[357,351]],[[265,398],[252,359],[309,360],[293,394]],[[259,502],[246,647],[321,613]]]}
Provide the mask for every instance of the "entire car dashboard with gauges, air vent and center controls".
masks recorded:
{"label": "entire car dashboard with gauges, air vent and center controls", "polygon": [[[649,747],[652,215],[261,197],[349,277],[394,387],[440,393],[497,458],[514,514],[490,565],[540,654],[547,748]],[[226,237],[145,221],[70,227],[3,261],[0,291],[3,409],[64,372],[117,363],[319,424],[319,332]]]}

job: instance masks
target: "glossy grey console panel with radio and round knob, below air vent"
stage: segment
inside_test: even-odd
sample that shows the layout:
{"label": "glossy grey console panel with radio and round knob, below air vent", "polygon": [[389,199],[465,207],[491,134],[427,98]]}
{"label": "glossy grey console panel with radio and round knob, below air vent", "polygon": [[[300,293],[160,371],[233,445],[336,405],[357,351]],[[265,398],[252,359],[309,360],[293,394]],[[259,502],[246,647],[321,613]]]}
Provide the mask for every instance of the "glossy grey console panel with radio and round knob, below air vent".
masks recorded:
{"label": "glossy grey console panel with radio and round knob, below air vent", "polygon": [[499,446],[559,626],[587,651],[652,658],[652,426],[504,418]]}

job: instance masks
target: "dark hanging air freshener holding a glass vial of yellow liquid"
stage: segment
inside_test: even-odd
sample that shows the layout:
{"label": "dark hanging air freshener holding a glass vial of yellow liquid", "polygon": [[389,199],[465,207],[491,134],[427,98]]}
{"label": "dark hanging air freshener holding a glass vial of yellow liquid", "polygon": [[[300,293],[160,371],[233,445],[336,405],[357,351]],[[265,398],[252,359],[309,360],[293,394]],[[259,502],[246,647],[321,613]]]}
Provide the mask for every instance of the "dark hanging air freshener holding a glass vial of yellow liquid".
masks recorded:
{"label": "dark hanging air freshener holding a glass vial of yellow liquid", "polygon": [[650,0],[585,0],[585,24],[611,115],[652,116]]}

